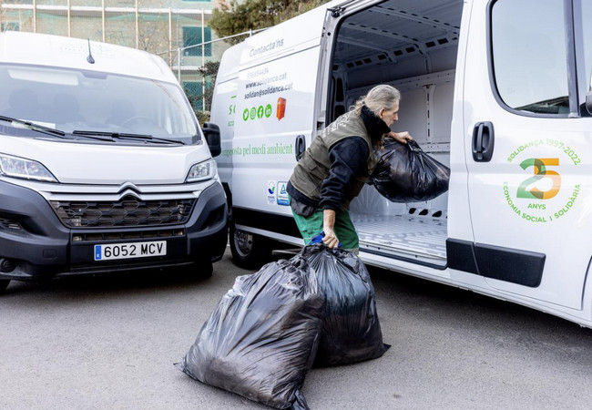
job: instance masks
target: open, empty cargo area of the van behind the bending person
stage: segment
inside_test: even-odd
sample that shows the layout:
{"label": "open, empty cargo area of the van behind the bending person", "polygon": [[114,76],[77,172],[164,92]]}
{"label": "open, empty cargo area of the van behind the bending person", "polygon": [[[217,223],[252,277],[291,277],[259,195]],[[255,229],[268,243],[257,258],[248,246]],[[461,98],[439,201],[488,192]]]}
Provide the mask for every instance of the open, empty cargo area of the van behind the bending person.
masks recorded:
{"label": "open, empty cargo area of the van behind the bending person", "polygon": [[[434,2],[432,2],[434,3]],[[378,84],[401,91],[394,131],[409,131],[424,152],[450,166],[454,68],[463,2],[387,1],[343,20],[332,55],[327,123]],[[430,15],[426,17],[425,15]],[[372,186],[352,201],[361,251],[446,265],[447,194],[393,203]]]}

